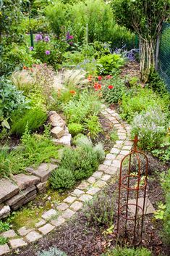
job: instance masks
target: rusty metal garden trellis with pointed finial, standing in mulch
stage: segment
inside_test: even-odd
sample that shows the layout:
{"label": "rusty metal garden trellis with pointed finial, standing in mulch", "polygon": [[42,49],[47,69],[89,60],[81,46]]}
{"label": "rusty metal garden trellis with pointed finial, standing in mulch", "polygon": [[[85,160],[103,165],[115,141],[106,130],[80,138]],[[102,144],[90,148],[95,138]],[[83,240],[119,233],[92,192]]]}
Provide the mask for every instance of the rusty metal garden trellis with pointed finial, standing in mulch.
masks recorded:
{"label": "rusty metal garden trellis with pointed finial, standing in mulch", "polygon": [[[119,174],[119,199],[118,199],[118,215],[117,215],[117,236],[119,237],[122,233],[122,227],[120,227],[120,220],[123,220],[124,226],[124,234],[125,237],[128,238],[128,232],[132,234],[132,244],[137,245],[140,244],[143,236],[143,221],[145,214],[145,199],[146,199],[146,188],[147,188],[147,177],[148,177],[148,158],[143,153],[137,150],[137,136],[135,136],[134,147],[129,154],[127,154],[121,162],[120,165],[120,174]],[[141,159],[140,157],[144,157],[145,159],[145,170],[141,170]],[[137,174],[132,173],[132,157],[135,157],[137,160]],[[128,170],[127,175],[122,174],[124,161],[128,160]],[[143,176],[142,176],[143,175]],[[124,182],[127,181],[127,184]],[[132,186],[132,182],[137,182],[137,185]],[[122,190],[125,189],[127,191],[126,202],[122,203]],[[140,191],[143,191],[143,206],[141,207],[139,203]],[[135,203],[129,203],[129,194],[136,194]],[[135,207],[134,216],[130,215],[129,207]],[[139,212],[141,214],[139,214]],[[122,217],[122,218],[121,218]],[[128,228],[128,221],[130,221],[130,226],[132,226],[132,222],[134,223],[134,227],[130,230]],[[139,228],[140,226],[140,228]],[[137,229],[138,228],[138,229]],[[140,230],[140,232],[139,232]],[[140,234],[139,234],[140,233]]]}

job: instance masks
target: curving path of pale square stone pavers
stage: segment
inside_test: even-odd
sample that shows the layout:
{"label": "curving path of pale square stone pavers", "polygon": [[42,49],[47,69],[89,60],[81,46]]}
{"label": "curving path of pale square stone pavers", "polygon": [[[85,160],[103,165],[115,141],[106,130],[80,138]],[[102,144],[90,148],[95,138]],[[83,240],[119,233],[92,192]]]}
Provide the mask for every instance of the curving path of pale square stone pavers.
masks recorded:
{"label": "curving path of pale square stone pavers", "polygon": [[9,239],[9,243],[0,246],[0,255],[4,255],[12,249],[25,247],[28,243],[41,239],[43,235],[61,226],[83,207],[84,202],[92,199],[98,191],[106,186],[119,171],[122,158],[130,152],[133,144],[129,140],[130,126],[119,117],[115,110],[111,110],[105,105],[102,106],[101,113],[113,123],[119,137],[111,152],[106,154],[103,164],[98,166],[98,170],[90,178],[82,181],[56,210],[51,209],[44,212],[42,219],[35,224],[35,228],[24,226],[17,231],[9,230],[1,234]]}

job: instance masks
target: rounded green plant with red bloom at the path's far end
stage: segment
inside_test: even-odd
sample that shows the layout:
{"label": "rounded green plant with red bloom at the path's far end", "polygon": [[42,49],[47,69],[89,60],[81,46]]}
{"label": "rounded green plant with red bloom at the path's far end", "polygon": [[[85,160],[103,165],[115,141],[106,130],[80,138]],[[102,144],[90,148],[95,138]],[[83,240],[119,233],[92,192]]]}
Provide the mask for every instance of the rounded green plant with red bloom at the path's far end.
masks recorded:
{"label": "rounded green plant with red bloom at the path's far end", "polygon": [[125,91],[124,80],[119,77],[112,78],[103,86],[102,96],[105,102],[116,104],[122,100]]}

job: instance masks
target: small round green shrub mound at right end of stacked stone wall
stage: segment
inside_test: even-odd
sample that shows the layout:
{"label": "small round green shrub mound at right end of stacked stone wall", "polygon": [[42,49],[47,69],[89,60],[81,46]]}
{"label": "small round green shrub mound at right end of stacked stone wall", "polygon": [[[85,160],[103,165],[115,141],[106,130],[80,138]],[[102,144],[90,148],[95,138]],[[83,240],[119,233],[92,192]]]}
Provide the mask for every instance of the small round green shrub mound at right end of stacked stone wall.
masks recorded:
{"label": "small round green shrub mound at right end of stacked stone wall", "polygon": [[71,189],[75,185],[75,177],[72,170],[61,166],[51,173],[50,183],[53,189]]}

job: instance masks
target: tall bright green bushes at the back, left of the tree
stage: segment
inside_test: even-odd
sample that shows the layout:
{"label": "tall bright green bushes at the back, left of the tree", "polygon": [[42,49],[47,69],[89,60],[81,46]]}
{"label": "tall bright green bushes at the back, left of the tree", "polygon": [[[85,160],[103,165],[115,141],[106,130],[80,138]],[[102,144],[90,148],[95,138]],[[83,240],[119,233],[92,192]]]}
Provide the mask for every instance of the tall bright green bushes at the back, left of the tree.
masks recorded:
{"label": "tall bright green bushes at the back, left of the tree", "polygon": [[103,0],[76,1],[74,4],[62,4],[57,1],[47,7],[46,16],[57,37],[67,28],[76,43],[112,41],[115,47],[121,47],[135,41],[134,35],[124,27],[116,25],[110,4]]}

